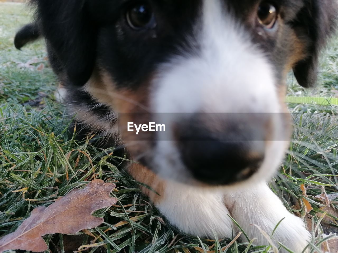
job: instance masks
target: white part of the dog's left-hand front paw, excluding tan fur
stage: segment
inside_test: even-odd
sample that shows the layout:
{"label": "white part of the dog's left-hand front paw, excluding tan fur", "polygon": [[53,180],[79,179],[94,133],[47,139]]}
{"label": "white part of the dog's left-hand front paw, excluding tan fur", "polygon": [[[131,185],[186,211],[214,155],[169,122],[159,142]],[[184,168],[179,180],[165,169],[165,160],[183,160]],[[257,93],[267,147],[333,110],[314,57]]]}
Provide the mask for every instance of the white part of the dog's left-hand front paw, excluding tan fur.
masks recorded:
{"label": "white part of the dog's left-hand front paw, excluding tan fur", "polygon": [[183,233],[201,238],[233,237],[233,223],[223,195],[178,184],[168,184],[156,207]]}

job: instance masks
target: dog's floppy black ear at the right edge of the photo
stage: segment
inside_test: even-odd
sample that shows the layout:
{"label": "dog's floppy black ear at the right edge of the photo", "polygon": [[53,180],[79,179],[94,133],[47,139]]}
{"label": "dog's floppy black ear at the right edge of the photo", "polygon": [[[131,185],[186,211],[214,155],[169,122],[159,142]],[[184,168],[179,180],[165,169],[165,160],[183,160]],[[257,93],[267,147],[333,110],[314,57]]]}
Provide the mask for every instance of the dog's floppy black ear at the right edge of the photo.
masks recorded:
{"label": "dog's floppy black ear at the right edge of the photo", "polygon": [[293,72],[301,86],[313,87],[317,81],[319,53],[335,28],[337,1],[305,0],[305,2],[305,7],[298,13],[293,26],[305,47],[306,58],[296,63]]}

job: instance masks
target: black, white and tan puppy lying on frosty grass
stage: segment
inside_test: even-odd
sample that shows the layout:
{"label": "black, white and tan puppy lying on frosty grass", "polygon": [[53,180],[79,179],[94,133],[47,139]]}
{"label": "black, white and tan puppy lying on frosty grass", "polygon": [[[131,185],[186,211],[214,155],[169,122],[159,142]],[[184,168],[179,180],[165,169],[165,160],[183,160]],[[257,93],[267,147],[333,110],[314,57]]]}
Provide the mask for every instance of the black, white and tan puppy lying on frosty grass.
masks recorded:
{"label": "black, white and tan puppy lying on frosty grass", "polygon": [[[96,133],[102,147],[123,145],[138,162],[126,169],[153,189],[142,187],[173,226],[231,238],[239,230],[231,216],[266,245],[250,224],[271,234],[284,218],[273,242],[294,252],[307,247],[303,220],[266,182],[291,134],[286,76],[292,70],[301,86],[315,85],[336,1],[31,3],[35,21],[17,33],[16,47],[45,38],[83,136]],[[131,122],[165,122],[166,130],[137,135]]]}

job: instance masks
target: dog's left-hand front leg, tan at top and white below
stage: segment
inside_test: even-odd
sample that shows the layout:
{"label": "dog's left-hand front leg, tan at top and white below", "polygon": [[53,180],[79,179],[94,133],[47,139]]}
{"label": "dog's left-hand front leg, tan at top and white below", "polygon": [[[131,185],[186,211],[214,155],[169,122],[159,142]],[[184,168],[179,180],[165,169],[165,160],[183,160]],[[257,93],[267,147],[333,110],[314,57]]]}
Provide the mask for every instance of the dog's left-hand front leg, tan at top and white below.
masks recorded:
{"label": "dog's left-hand front leg, tan at top and white below", "polygon": [[236,235],[222,194],[161,180],[140,165],[131,166],[129,173],[159,193],[142,187],[162,215],[180,231],[211,239],[214,238],[212,230],[220,239]]}

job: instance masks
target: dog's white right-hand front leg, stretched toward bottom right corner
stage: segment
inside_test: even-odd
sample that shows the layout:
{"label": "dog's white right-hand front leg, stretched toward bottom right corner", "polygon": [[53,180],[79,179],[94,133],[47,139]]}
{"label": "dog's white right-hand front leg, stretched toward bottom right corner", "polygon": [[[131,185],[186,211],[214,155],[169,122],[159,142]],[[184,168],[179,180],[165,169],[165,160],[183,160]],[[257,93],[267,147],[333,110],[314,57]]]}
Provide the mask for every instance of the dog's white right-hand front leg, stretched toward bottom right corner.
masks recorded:
{"label": "dog's white right-hand front leg, stretched toward bottom right corner", "polygon": [[[279,241],[294,252],[300,253],[310,241],[310,233],[303,220],[289,213],[265,182],[250,189],[227,194],[225,199],[232,217],[251,239],[257,238],[255,244],[266,245],[267,240],[257,227],[250,224],[258,225],[271,235],[277,223],[284,217],[273,234],[272,241],[277,247],[279,245],[276,241]],[[246,241],[244,236],[242,240]]]}

